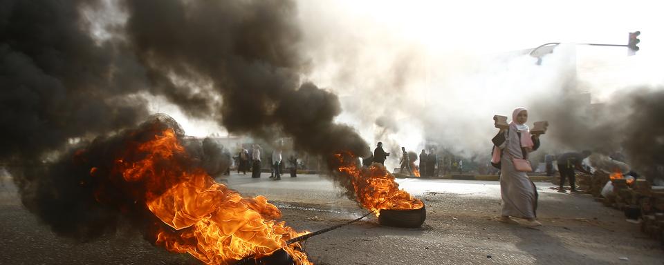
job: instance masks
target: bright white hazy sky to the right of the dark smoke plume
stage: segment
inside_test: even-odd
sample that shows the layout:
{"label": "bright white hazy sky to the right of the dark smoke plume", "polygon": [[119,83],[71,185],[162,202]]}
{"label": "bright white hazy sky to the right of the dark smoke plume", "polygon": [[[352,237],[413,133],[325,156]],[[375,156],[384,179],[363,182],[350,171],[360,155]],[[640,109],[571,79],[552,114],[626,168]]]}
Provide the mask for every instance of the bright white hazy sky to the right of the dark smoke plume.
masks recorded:
{"label": "bright white hazy sky to the right of the dark smoke plume", "polygon": [[[553,115],[558,110],[582,112],[560,100],[569,90],[590,92],[598,103],[618,91],[661,87],[664,35],[654,5],[299,1],[299,10],[313,58],[308,77],[339,93],[338,120],[353,124],[372,146],[383,141],[392,151],[420,150],[429,137],[471,156],[488,153],[494,114],[510,116],[525,106],[533,110],[530,124],[558,121],[555,131],[571,119]],[[626,44],[635,30],[642,41],[632,57],[627,48],[574,44],[559,46],[541,66],[524,55],[548,42]],[[548,136],[544,147],[555,151],[591,148]]]}

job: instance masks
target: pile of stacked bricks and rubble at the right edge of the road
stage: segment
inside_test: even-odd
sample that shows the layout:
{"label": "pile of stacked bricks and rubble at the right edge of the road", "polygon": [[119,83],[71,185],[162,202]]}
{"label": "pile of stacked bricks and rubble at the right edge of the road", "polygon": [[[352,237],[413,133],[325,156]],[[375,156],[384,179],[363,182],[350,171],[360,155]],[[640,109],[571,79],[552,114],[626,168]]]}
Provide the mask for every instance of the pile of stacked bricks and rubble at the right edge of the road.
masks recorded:
{"label": "pile of stacked bricks and rubble at the right edge of the road", "polygon": [[[664,244],[664,187],[651,186],[646,179],[611,179],[609,174],[597,170],[594,175],[579,175],[578,185],[605,206],[625,212],[629,219],[640,219],[641,231]],[[607,181],[613,190],[602,196]],[[610,188],[610,187],[607,187]]]}

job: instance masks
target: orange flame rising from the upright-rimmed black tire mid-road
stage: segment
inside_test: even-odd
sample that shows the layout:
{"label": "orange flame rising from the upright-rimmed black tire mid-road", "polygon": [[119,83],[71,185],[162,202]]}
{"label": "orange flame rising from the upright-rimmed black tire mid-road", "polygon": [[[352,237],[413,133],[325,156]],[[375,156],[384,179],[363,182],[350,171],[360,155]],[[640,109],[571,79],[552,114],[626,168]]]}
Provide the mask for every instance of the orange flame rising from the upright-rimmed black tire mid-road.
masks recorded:
{"label": "orange flame rising from the upright-rimmed black tire mid-road", "polygon": [[409,210],[424,206],[421,200],[399,189],[385,166],[374,163],[369,168],[358,168],[357,157],[352,153],[338,153],[335,157],[340,163],[338,172],[351,178],[357,201],[376,216],[383,209]]}

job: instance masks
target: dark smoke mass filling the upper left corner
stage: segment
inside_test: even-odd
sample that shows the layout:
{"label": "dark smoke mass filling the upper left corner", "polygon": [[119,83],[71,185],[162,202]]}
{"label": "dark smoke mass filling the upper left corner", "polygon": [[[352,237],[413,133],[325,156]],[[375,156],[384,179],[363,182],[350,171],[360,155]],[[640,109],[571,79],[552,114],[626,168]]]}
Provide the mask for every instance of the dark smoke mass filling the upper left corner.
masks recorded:
{"label": "dark smoke mass filling the upper left corner", "polygon": [[81,1],[2,1],[0,159],[39,159],[71,137],[98,135],[147,117],[112,43],[84,30]]}

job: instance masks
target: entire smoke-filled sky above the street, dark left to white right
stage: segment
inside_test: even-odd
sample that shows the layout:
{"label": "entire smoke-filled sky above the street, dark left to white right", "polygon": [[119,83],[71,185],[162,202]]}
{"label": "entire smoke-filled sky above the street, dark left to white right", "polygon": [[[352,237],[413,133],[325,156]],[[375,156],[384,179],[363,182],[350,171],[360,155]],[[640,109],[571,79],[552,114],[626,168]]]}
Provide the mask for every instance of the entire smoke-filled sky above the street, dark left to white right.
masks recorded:
{"label": "entire smoke-filled sky above the street, dark left to white right", "polygon": [[[652,1],[100,0],[44,4],[50,13],[19,3],[2,8],[4,71],[17,77],[3,84],[39,89],[3,97],[17,105],[5,112],[29,114],[3,119],[18,124],[10,137],[30,142],[12,141],[6,153],[57,149],[63,139],[165,112],[188,135],[268,137],[273,124],[326,130],[323,117],[342,124],[338,133],[356,130],[371,149],[376,141],[388,152],[436,143],[471,157],[490,150],[491,117],[517,106],[531,109],[529,124],[551,121],[543,148],[579,150],[598,146],[579,132],[607,127],[584,116],[580,92],[608,104],[664,86],[664,30]],[[625,44],[634,30],[642,32],[636,56],[571,44]],[[547,42],[565,44],[538,66],[526,53]],[[288,106],[314,98],[326,103]],[[314,108],[322,112],[288,119]],[[622,110],[625,119],[631,110]],[[309,148],[323,141],[306,128],[284,129]]]}

